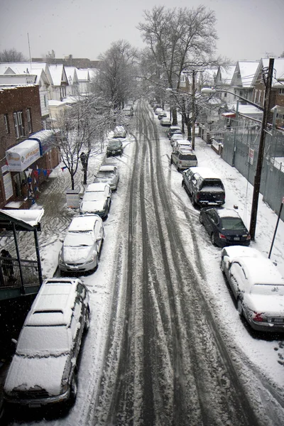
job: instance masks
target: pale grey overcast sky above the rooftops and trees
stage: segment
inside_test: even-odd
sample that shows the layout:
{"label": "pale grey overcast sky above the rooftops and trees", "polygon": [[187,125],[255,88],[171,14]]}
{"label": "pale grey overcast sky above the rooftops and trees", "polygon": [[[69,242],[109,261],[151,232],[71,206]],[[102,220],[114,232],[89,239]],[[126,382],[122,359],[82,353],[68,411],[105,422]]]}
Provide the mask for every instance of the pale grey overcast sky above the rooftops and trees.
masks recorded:
{"label": "pale grey overcast sky above the rooftops and trees", "polygon": [[[129,41],[143,47],[136,29],[143,11],[159,6],[155,0],[0,0],[0,51],[16,48],[41,58],[95,60],[112,42]],[[279,56],[284,50],[284,0],[163,0],[167,8],[204,4],[217,18],[217,53],[233,61]]]}

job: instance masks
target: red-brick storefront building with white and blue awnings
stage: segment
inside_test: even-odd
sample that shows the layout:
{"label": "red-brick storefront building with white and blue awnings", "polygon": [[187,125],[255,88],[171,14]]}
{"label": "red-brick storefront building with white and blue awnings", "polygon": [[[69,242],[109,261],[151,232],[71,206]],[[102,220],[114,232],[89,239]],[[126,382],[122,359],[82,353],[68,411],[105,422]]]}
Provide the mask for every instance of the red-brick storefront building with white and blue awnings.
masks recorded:
{"label": "red-brick storefront building with white and blue awnings", "polygon": [[43,129],[38,84],[0,86],[0,208],[25,209],[60,163],[53,131]]}

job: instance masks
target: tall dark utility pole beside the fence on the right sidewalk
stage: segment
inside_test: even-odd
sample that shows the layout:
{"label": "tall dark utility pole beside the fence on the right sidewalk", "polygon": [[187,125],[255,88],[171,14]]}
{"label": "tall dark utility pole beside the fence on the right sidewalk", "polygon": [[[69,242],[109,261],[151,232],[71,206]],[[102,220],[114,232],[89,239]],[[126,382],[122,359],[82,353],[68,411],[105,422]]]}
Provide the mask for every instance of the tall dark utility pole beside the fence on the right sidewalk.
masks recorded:
{"label": "tall dark utility pole beside the fence on the right sidewalk", "polygon": [[252,240],[254,240],[256,236],[256,217],[257,217],[257,210],[258,210],[258,196],[259,196],[259,190],[261,187],[261,170],[262,170],[262,163],[263,163],[264,146],[266,141],[266,126],[268,122],[268,112],[269,112],[269,104],[270,104],[270,96],[271,96],[273,65],[274,65],[274,59],[270,58],[269,67],[268,67],[268,77],[267,79],[264,78],[264,82],[266,84],[266,92],[265,92],[264,105],[263,105],[263,119],[261,123],[261,138],[259,140],[259,147],[258,147],[256,175],[254,177],[254,185],[253,185],[253,202],[251,206],[251,224],[249,229]]}

